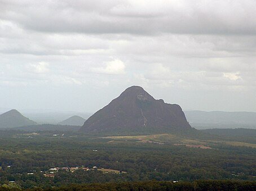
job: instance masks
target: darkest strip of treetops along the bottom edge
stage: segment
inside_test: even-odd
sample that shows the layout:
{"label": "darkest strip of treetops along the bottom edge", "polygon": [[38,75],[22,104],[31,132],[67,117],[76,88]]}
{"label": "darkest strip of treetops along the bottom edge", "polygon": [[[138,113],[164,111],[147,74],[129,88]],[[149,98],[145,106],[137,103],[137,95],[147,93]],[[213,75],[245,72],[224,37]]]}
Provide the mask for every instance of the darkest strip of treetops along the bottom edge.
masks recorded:
{"label": "darkest strip of treetops along the bottom edge", "polygon": [[256,181],[231,181],[231,180],[198,180],[193,182],[181,181],[173,183],[171,181],[139,181],[123,183],[94,183],[94,184],[71,184],[67,186],[29,190],[256,190]]}

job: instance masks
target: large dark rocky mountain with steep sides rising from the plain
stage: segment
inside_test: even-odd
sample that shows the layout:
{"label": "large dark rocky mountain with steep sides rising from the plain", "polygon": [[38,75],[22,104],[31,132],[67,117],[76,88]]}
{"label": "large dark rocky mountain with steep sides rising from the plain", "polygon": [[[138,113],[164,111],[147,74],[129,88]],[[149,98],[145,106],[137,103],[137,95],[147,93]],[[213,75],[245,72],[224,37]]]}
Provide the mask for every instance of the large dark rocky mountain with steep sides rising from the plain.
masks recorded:
{"label": "large dark rocky mountain with steep sides rising from the plain", "polygon": [[192,129],[182,108],[155,99],[142,87],[127,88],[82,126],[85,132],[169,132]]}

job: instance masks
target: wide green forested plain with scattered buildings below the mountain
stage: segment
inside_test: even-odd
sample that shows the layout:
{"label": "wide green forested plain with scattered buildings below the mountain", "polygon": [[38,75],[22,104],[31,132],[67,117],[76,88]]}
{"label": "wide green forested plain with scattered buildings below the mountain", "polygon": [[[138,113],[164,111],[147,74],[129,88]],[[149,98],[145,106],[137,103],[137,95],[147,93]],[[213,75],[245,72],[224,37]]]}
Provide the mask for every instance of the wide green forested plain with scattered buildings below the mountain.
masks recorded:
{"label": "wide green forested plain with scattered buildings below the mountain", "polygon": [[211,149],[189,148],[172,142],[113,140],[72,132],[5,131],[0,137],[2,187],[50,189],[73,183],[113,183],[116,187],[114,183],[124,181],[190,184],[195,180],[256,180],[256,149],[251,147],[219,143],[210,145]]}

